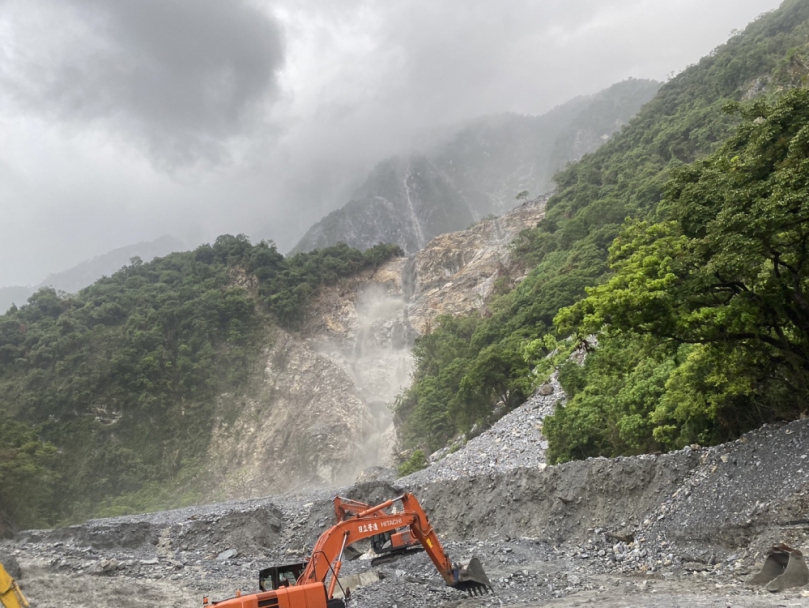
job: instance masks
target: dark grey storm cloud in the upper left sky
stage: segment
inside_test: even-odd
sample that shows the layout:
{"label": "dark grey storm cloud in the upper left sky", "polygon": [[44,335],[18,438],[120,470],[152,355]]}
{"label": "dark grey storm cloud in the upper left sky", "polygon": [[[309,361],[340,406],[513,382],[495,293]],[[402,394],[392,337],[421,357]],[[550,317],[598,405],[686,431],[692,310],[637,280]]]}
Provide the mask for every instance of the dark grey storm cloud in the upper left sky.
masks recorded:
{"label": "dark grey storm cloud in the upper left sky", "polygon": [[161,164],[221,159],[278,93],[280,29],[245,0],[29,0],[0,11],[16,13],[3,79],[20,106],[109,122]]}

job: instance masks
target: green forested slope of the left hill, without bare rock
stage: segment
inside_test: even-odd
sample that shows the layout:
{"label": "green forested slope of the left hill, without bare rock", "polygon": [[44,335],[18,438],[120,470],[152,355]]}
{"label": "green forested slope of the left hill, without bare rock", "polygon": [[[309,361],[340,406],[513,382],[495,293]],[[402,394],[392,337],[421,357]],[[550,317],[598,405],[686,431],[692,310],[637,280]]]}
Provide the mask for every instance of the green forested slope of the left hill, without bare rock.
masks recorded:
{"label": "green forested slope of the left hill, without bare rock", "polygon": [[400,253],[284,258],[222,236],[12,307],[0,316],[0,516],[32,526],[200,498],[217,396],[249,390],[273,328],[300,326],[320,287]]}

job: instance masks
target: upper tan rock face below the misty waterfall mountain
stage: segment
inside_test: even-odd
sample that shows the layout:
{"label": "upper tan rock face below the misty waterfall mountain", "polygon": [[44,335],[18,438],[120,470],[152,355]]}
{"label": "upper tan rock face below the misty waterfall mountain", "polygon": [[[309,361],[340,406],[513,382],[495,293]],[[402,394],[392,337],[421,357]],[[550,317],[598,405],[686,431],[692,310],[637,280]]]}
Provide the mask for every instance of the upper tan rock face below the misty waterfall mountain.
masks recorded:
{"label": "upper tan rock face below the misty waterfall mountain", "polygon": [[[437,236],[415,256],[395,258],[374,273],[322,291],[311,309],[307,340],[347,370],[350,365],[352,377],[367,376],[359,384],[368,387],[363,391],[369,398],[390,400],[401,388],[401,374],[385,357],[409,353],[413,339],[429,331],[438,315],[481,310],[498,278],[520,281],[510,246],[544,217],[546,201],[539,197],[503,217]],[[371,388],[380,374],[395,375],[397,382]],[[397,385],[393,392],[391,384]]]}

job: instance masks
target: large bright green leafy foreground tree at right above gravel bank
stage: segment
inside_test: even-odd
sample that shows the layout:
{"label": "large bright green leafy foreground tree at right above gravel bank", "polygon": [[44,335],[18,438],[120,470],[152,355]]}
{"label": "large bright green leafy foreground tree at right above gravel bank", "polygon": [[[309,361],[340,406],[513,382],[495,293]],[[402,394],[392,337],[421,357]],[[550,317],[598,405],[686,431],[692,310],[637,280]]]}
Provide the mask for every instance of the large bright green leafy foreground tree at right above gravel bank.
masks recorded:
{"label": "large bright green leafy foreground tree at right above gravel bank", "polygon": [[[674,173],[666,219],[628,222],[614,275],[556,318],[580,336],[606,331],[607,344],[626,332],[676,352],[639,410],[647,439],[667,447],[796,417],[809,397],[809,91],[728,111],[742,124]],[[598,409],[584,401],[551,422],[560,445],[564,418]]]}

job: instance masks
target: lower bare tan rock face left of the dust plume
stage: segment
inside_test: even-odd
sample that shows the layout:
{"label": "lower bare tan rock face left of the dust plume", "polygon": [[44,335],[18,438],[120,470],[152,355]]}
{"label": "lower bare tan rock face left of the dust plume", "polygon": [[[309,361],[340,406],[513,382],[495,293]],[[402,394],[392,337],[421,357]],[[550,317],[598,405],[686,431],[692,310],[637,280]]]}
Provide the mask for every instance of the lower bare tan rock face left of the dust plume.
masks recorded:
{"label": "lower bare tan rock face left of the dust plume", "polygon": [[279,332],[250,396],[222,395],[209,454],[230,497],[335,485],[364,468],[372,415],[351,378]]}

